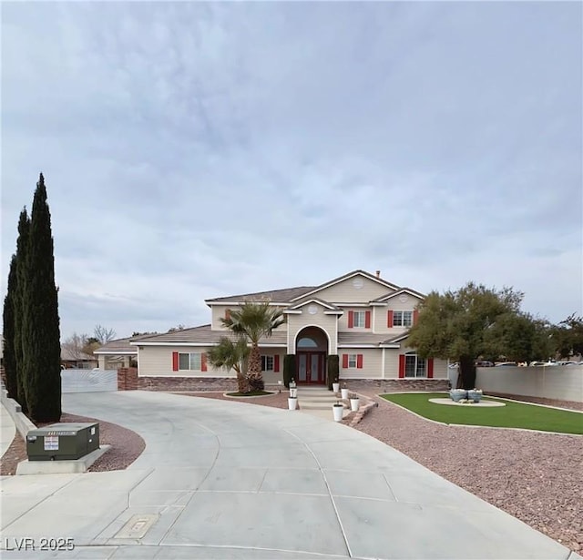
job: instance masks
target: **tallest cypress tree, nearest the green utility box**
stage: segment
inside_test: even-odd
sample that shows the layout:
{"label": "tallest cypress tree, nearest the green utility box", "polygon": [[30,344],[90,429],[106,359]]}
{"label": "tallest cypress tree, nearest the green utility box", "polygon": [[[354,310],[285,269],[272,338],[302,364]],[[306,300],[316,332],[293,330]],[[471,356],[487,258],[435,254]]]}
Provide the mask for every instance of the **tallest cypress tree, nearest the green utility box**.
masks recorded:
{"label": "tallest cypress tree, nearest the green utility box", "polygon": [[24,329],[26,402],[36,422],[61,418],[61,344],[51,216],[45,178],[36,183],[28,243]]}

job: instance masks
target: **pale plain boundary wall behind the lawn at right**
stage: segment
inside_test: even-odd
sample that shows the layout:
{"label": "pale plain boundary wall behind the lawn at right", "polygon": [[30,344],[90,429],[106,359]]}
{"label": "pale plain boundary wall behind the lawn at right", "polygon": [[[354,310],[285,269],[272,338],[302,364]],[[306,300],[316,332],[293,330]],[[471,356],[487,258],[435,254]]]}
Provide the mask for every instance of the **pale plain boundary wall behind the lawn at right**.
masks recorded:
{"label": "pale plain boundary wall behind the lawn at right", "polygon": [[583,402],[583,366],[477,368],[476,387],[484,392]]}

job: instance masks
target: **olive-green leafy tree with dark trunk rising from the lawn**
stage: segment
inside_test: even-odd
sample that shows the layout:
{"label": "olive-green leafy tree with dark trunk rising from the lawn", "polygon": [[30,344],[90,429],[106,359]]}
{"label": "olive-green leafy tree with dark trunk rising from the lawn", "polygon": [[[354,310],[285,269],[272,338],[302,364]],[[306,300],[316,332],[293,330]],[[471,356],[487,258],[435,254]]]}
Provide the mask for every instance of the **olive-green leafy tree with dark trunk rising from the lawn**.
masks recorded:
{"label": "olive-green leafy tree with dark trunk rising from the lawn", "polygon": [[486,332],[506,314],[518,314],[522,298],[522,293],[511,288],[487,289],[474,282],[444,294],[432,291],[418,307],[419,317],[409,331],[407,345],[422,358],[458,361],[458,384],[472,389],[476,358],[487,354],[491,344]]}

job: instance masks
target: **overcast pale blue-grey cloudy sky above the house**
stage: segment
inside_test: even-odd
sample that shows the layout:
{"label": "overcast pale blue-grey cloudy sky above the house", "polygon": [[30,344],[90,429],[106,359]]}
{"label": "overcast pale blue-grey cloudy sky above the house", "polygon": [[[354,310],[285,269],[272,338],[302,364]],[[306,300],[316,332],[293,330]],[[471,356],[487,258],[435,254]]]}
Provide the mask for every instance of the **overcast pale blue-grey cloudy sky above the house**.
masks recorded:
{"label": "overcast pale blue-grey cloudy sky above the house", "polygon": [[2,298],[42,171],[63,338],[354,269],[583,311],[581,3],[1,9]]}

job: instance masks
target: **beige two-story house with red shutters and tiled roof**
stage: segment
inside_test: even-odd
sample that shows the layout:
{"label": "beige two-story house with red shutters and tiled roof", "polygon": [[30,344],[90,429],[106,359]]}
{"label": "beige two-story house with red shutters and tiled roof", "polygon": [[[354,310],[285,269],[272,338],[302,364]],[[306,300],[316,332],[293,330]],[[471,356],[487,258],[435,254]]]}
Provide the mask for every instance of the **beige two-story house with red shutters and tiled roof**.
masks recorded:
{"label": "beige two-story house with red shutters and tiled roof", "polygon": [[[296,355],[299,384],[323,384],[327,357],[338,354],[341,380],[447,380],[447,364],[423,360],[407,347],[423,294],[354,270],[319,286],[261,291],[205,300],[210,324],[129,340],[137,351],[140,386],[188,388],[234,378],[215,370],[207,352],[230,335],[220,321],[245,300],[269,300],[286,322],[260,342],[263,378],[282,381],[283,358]],[[124,341],[126,342],[126,341]],[[127,342],[126,342],[127,343]],[[118,349],[110,349],[112,352]],[[97,352],[108,351],[107,346]],[[189,380],[192,383],[189,383]]]}

